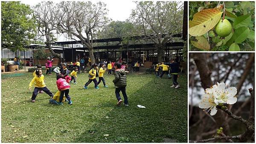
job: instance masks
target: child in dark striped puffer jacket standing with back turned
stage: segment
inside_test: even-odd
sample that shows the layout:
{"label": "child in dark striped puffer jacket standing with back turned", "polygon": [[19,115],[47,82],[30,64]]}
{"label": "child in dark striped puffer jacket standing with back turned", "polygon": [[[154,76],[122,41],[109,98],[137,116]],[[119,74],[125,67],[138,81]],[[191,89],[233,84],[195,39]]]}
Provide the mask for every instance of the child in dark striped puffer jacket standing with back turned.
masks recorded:
{"label": "child in dark striped puffer jacket standing with back turned", "polygon": [[125,106],[128,106],[128,97],[126,95],[125,92],[125,87],[126,87],[126,75],[125,75],[125,70],[121,69],[121,63],[115,63],[114,64],[114,75],[115,75],[115,79],[113,80],[113,83],[116,86],[116,98],[117,98],[117,104],[116,105],[120,105],[122,103],[122,98],[119,94],[120,91],[122,91],[122,95],[125,99]]}

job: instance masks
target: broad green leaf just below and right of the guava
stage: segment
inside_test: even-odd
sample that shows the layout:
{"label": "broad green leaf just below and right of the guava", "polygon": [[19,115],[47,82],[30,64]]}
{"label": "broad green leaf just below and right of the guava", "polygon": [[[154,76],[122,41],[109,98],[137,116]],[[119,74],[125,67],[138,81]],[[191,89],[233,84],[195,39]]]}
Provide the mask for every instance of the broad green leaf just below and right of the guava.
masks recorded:
{"label": "broad green leaf just below and right of the guava", "polygon": [[233,36],[227,42],[227,46],[230,46],[232,43],[242,43],[248,37],[250,29],[248,27],[240,27],[235,30]]}

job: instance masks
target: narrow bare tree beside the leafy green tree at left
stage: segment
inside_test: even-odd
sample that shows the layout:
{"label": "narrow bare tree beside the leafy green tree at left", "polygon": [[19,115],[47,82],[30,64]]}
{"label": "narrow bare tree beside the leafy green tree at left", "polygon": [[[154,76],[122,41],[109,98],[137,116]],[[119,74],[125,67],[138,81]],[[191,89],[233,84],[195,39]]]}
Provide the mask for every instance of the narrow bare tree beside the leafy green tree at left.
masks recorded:
{"label": "narrow bare tree beside the leafy green tree at left", "polygon": [[56,32],[55,25],[56,19],[54,17],[54,3],[51,1],[44,1],[38,3],[36,6],[33,7],[34,9],[34,17],[38,24],[38,34],[40,37],[46,37],[46,48],[49,49],[51,54],[61,61],[61,55],[55,53],[51,47],[51,42],[56,41],[57,39],[54,36],[54,32]]}

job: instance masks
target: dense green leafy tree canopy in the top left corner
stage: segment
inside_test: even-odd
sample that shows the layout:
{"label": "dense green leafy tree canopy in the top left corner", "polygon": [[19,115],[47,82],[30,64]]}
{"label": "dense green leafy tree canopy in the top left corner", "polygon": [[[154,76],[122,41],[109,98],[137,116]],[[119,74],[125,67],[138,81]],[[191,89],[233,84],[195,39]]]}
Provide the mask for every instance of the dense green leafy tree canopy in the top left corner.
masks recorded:
{"label": "dense green leafy tree canopy in the top left corner", "polygon": [[35,37],[35,21],[31,17],[32,9],[18,1],[1,2],[2,47],[12,52],[23,50]]}

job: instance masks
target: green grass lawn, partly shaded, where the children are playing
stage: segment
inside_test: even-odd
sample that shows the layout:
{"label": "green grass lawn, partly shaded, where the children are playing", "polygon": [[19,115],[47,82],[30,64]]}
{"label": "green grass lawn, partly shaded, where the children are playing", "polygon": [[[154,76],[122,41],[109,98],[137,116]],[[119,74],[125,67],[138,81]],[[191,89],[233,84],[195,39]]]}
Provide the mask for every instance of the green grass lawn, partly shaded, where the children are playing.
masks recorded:
{"label": "green grass lawn, partly shaded, where the children are playing", "polygon": [[[38,94],[36,102],[31,103],[33,88],[29,91],[28,85],[32,73],[22,74],[2,75],[4,143],[163,142],[164,138],[187,142],[186,75],[177,80],[180,89],[170,88],[172,80],[166,75],[162,79],[153,74],[127,75],[129,106],[118,107],[113,75],[105,75],[108,88],[101,83],[99,89],[94,89],[92,82],[89,89],[84,89],[88,74],[78,74],[78,84],[70,84],[73,105],[65,102],[58,106],[49,104],[45,93]],[[57,91],[55,81],[55,75],[45,75],[45,83],[53,93]]]}

